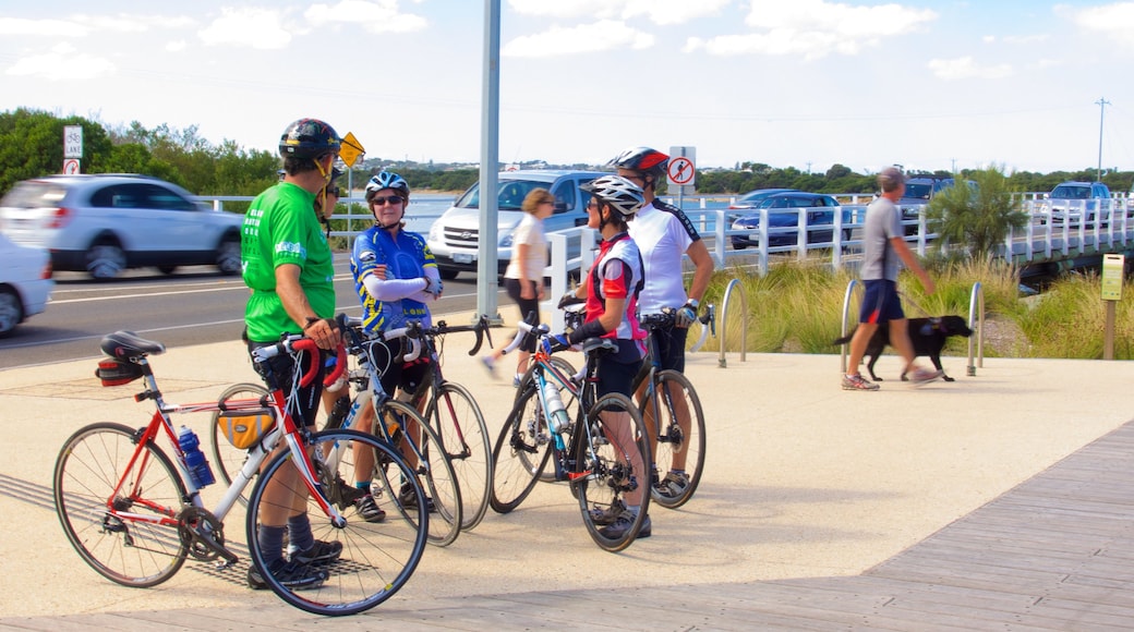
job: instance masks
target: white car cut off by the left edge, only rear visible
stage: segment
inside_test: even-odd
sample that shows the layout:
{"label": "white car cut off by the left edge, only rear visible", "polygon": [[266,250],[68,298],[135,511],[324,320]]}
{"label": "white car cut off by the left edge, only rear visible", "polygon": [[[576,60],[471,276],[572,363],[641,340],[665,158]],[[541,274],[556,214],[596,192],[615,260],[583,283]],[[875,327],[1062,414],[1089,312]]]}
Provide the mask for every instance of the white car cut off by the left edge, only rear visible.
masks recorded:
{"label": "white car cut off by the left edge, only rear visible", "polygon": [[0,336],[8,335],[28,316],[48,305],[54,281],[51,255],[43,248],[20,246],[0,234]]}

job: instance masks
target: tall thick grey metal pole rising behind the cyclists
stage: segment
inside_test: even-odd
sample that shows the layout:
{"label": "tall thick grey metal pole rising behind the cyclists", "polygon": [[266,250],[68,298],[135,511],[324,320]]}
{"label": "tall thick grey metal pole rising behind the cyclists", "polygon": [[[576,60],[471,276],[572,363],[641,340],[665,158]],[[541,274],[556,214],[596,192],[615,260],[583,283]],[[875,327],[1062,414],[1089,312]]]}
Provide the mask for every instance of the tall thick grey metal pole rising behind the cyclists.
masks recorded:
{"label": "tall thick grey metal pole rising behind the cyclists", "polygon": [[[497,309],[497,169],[500,163],[500,0],[484,1],[484,84],[481,95],[481,224],[476,314],[500,321]],[[475,319],[475,316],[474,316]]]}

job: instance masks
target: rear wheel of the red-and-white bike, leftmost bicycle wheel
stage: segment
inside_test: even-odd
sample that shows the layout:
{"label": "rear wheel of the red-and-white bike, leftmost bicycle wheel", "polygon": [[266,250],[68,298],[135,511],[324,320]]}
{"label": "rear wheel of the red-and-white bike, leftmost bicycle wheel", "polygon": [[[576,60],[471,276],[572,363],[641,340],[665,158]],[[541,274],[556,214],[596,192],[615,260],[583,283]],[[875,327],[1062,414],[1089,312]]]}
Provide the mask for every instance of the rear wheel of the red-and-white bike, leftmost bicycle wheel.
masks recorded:
{"label": "rear wheel of the red-and-white bike, leftmost bicycle wheel", "polygon": [[52,487],[59,523],[79,557],[115,583],[150,588],[181,569],[188,544],[181,540],[176,523],[122,520],[110,515],[107,503],[118,481],[126,480],[144,497],[117,497],[121,510],[175,518],[186,490],[169,456],[152,442],[143,447],[144,456],[133,463],[134,471],[126,471],[137,447],[136,434],[136,429],[111,422],[81,428],[59,451]]}

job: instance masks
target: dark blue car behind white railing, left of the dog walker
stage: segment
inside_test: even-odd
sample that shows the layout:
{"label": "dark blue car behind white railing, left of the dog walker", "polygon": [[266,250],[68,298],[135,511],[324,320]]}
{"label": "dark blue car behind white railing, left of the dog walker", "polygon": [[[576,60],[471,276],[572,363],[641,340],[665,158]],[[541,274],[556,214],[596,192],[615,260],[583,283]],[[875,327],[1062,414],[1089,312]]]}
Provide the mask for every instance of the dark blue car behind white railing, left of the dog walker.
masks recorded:
{"label": "dark blue car behind white railing, left of the dog walker", "polygon": [[[823,244],[833,240],[835,236],[835,213],[843,214],[843,223],[850,223],[850,211],[843,210],[839,202],[829,195],[785,191],[770,195],[760,203],[758,208],[746,215],[737,217],[733,222],[734,230],[746,230],[750,232],[733,234],[733,248],[743,250],[748,246],[760,246],[760,211],[768,210],[768,228],[796,228],[799,224],[799,213],[806,213],[807,244]],[[843,229],[843,239],[850,239],[850,229]],[[794,232],[769,233],[769,246],[794,246],[798,238]]]}

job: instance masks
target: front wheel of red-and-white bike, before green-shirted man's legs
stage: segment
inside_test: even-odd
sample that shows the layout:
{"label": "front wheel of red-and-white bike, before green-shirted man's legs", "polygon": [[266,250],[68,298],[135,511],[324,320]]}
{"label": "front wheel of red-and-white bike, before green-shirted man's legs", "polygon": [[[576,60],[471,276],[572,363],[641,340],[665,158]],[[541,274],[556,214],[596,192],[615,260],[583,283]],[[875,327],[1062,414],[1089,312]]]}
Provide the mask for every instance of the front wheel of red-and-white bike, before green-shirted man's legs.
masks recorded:
{"label": "front wheel of red-and-white bike, before green-shirted man's legs", "polygon": [[[342,544],[340,556],[321,567],[325,579],[320,586],[294,590],[281,584],[271,573],[263,572],[266,561],[276,556],[268,556],[256,538],[259,515],[270,504],[269,485],[280,476],[284,468],[294,467],[289,451],[278,454],[265,466],[248,498],[247,533],[252,564],[260,570],[264,582],[280,599],[318,615],[353,615],[386,601],[409,580],[425,549],[426,535],[422,526],[429,522],[429,518],[422,502],[421,486],[416,482],[413,488],[420,509],[411,514],[413,519],[397,514],[373,523],[366,522],[355,512],[353,496],[342,493],[357,489],[352,449],[354,444],[361,444],[364,450],[373,450],[396,472],[400,472],[407,480],[414,480],[413,471],[401,455],[378,437],[355,430],[327,430],[311,436],[307,445],[312,449],[316,471],[322,472],[320,482],[323,493],[345,519],[345,524],[336,527],[320,509],[318,501],[307,494],[306,486],[298,490],[298,494],[307,496],[306,512],[315,539],[338,540]],[[335,459],[328,458],[331,454],[335,454]],[[288,497],[287,492],[284,494],[280,498],[285,504],[294,499]]]}

